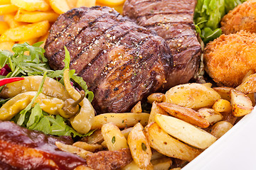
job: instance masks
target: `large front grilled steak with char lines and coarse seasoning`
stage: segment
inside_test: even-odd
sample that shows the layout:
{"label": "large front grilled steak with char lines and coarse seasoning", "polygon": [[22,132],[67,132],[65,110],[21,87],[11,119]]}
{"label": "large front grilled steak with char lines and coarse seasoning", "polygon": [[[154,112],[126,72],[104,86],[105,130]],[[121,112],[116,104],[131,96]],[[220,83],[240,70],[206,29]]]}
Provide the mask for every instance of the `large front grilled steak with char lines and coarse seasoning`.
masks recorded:
{"label": "large front grilled steak with char lines and coarse seasoning", "polygon": [[168,89],[173,60],[163,38],[109,7],[74,8],[60,15],[46,41],[50,67],[70,69],[94,92],[98,113],[125,112],[154,91]]}

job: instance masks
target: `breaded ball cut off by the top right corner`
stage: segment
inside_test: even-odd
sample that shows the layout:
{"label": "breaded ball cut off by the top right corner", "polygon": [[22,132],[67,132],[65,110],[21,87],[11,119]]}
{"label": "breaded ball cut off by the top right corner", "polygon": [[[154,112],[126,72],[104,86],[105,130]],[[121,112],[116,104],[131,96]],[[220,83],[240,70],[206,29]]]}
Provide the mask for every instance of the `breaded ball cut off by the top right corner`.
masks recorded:
{"label": "breaded ball cut off by the top right corner", "polygon": [[237,33],[240,30],[256,33],[256,0],[245,1],[223,16],[221,30],[224,34]]}

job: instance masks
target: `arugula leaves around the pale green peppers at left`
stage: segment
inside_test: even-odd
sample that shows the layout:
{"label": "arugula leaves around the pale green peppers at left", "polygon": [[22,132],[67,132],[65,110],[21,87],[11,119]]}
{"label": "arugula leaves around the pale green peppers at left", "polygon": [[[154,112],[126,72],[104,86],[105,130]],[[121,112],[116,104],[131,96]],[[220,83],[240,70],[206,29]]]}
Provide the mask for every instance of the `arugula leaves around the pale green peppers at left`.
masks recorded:
{"label": "arugula leaves around the pale green peppers at left", "polygon": [[[48,135],[68,135],[73,137],[91,135],[94,130],[82,135],[70,127],[68,119],[63,118],[60,115],[50,115],[42,111],[38,103],[34,103],[36,97],[43,91],[43,82],[45,81],[46,76],[59,79],[60,83],[64,84],[63,72],[65,69],[69,69],[70,65],[70,53],[65,47],[65,67],[63,70],[51,70],[47,63],[48,60],[43,55],[45,50],[40,47],[41,44],[42,42],[37,42],[34,45],[28,45],[26,42],[23,44],[16,44],[12,48],[14,53],[7,50],[0,50],[0,69],[6,64],[11,68],[11,72],[6,76],[1,76],[0,79],[7,77],[43,75],[43,79],[36,96],[33,98],[31,103],[29,103],[23,111],[14,116],[11,121],[14,121],[14,123],[28,128],[29,130],[38,130]],[[27,52],[29,52],[29,55]],[[93,99],[93,93],[87,89],[87,85],[82,77],[78,77],[78,75],[75,74],[75,69],[71,69],[69,74],[71,79],[73,79],[73,81],[75,81],[75,83],[85,91],[88,100],[91,102]],[[0,91],[2,88],[3,86],[0,87]],[[9,99],[1,99],[0,106],[8,100]]]}

